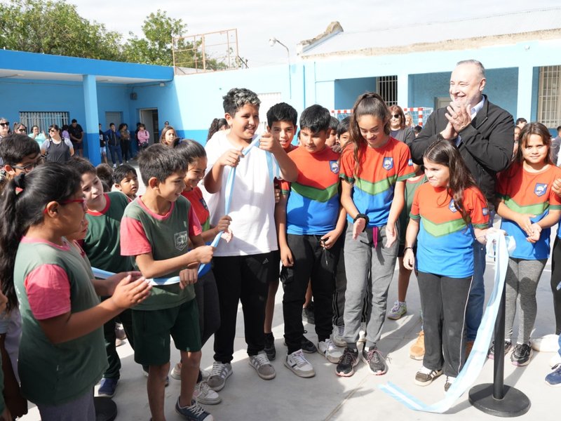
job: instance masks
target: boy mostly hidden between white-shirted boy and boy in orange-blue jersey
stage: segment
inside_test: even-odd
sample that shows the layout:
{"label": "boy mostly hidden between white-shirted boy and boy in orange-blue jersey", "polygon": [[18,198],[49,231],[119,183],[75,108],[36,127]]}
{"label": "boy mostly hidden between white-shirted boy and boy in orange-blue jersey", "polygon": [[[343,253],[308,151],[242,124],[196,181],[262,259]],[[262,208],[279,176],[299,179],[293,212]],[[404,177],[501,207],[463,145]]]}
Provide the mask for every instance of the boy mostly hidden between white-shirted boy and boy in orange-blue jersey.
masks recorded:
{"label": "boy mostly hidden between white-shirted boy and boy in orange-blue jersey", "polygon": [[[296,145],[292,145],[298,128],[298,112],[294,107],[286,102],[279,102],[267,111],[267,131],[271,133],[273,141],[280,142],[280,146],[285,152],[296,149]],[[275,178],[274,186],[276,192],[280,192],[280,180]],[[275,223],[278,224],[282,220],[285,222],[286,203],[276,203],[275,205]],[[275,295],[278,290],[278,275],[280,270],[280,253],[278,250],[273,252],[273,265],[271,268],[271,276],[269,278],[269,293],[267,294],[267,302],[265,305],[265,352],[269,360],[276,358],[275,337],[273,336],[273,316],[275,312]]]}

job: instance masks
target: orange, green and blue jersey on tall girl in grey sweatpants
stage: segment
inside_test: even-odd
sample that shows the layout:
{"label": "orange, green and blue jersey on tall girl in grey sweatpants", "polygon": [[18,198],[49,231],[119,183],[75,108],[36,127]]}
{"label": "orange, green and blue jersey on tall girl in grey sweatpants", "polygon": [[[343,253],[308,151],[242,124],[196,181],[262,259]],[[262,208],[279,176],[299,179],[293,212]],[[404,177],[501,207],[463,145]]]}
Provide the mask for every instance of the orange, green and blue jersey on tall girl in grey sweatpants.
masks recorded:
{"label": "orange, green and blue jersey on tall girl in grey sweatpants", "polygon": [[[341,156],[339,176],[353,185],[353,202],[359,213],[370,218],[368,227],[382,227],[388,222],[396,182],[414,177],[411,153],[405,143],[391,137],[382,147],[365,146],[359,152],[358,175],[353,148],[349,147]],[[347,220],[353,222],[350,215]]]}

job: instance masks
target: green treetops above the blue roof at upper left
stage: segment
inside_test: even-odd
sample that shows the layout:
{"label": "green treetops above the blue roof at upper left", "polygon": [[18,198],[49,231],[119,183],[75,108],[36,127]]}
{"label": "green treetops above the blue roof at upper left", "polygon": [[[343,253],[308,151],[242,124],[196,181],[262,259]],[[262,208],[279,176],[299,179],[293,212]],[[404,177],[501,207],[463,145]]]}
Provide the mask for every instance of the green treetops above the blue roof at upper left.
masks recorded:
{"label": "green treetops above the blue roof at upper left", "polygon": [[[119,32],[82,18],[64,0],[8,0],[0,4],[0,48],[31,53],[69,55],[173,66],[172,39],[185,36],[187,24],[165,11],[150,13],[142,24],[144,36],[132,32],[122,42]],[[201,41],[176,41],[178,66],[203,68]],[[233,52],[231,52],[233,53]],[[223,60],[205,57],[206,68],[227,69]]]}

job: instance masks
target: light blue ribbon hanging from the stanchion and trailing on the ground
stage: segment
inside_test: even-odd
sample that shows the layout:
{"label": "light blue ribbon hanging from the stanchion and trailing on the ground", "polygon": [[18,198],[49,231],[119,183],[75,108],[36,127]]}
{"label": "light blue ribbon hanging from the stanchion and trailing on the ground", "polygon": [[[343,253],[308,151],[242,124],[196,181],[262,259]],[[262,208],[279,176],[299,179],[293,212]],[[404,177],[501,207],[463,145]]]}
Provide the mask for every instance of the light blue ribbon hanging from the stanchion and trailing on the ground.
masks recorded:
{"label": "light blue ribbon hanging from the stanchion and trailing on the ground", "polygon": [[494,287],[487,302],[485,314],[483,314],[473,349],[471,349],[468,360],[461,369],[456,381],[448,389],[445,398],[432,405],[427,405],[391,382],[388,382],[386,385],[379,385],[380,389],[412,410],[444,413],[466,392],[468,387],[473,385],[487,359],[487,349],[494,333],[496,315],[499,313],[499,306],[501,304],[504,279],[508,267],[508,249],[513,249],[514,247],[514,239],[508,237],[507,246],[507,240],[502,232],[487,234],[487,255],[495,258]]}

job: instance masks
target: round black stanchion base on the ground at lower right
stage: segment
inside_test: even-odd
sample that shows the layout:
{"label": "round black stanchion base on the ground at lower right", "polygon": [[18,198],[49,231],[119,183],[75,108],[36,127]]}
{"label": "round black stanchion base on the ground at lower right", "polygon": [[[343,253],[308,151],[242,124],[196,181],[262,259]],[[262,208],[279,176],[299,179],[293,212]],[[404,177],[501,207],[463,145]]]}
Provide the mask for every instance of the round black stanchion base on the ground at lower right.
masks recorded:
{"label": "round black stanchion base on the ground at lower right", "polygon": [[530,408],[528,397],[514,387],[505,385],[503,399],[494,399],[492,383],[472,387],[469,402],[478,410],[496,417],[518,417]]}

